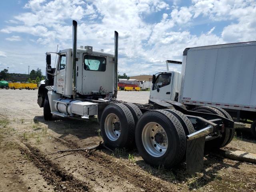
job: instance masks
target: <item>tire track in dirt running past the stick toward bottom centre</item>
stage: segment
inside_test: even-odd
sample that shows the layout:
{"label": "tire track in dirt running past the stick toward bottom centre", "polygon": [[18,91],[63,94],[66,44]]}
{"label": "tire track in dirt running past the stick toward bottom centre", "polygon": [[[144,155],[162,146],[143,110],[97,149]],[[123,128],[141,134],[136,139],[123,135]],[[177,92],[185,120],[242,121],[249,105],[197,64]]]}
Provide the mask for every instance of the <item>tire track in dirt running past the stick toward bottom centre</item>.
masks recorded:
{"label": "tire track in dirt running past the stick toward bottom centre", "polygon": [[[73,142],[72,140],[65,138],[55,138],[55,140],[61,142],[68,148],[81,148],[76,142]],[[90,155],[82,151],[79,153],[82,154],[85,158],[88,158],[89,160],[100,164],[107,170],[110,170],[113,175],[119,176],[121,179],[126,180],[134,186],[142,188],[146,192],[170,192],[175,190],[172,184],[163,182],[162,180],[155,179],[153,177],[149,177],[138,171],[136,172],[135,169],[127,168],[123,164],[115,163],[113,165],[114,162],[103,154],[100,154],[100,152],[91,152]]]}

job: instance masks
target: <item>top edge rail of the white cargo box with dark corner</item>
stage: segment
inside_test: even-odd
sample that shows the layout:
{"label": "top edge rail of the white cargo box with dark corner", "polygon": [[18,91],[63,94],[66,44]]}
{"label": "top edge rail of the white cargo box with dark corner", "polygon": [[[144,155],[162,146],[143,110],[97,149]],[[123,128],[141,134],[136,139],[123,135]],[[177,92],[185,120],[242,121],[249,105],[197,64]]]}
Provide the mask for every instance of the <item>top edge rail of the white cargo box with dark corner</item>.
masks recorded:
{"label": "top edge rail of the white cargo box with dark corner", "polygon": [[250,45],[255,45],[255,44],[256,44],[256,41],[248,41],[248,42],[238,42],[238,43],[227,43],[227,44],[191,47],[191,48],[184,49],[183,55],[187,55],[188,50],[193,51],[193,50],[216,49],[216,48],[224,48],[224,47],[250,46]]}

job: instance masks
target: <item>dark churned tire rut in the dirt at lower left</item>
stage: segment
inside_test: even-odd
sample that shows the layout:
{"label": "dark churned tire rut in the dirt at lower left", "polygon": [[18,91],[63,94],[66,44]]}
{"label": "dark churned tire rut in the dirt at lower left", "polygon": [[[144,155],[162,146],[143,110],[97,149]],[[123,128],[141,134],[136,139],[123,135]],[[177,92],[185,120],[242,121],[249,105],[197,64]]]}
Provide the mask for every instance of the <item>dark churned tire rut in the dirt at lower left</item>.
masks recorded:
{"label": "dark churned tire rut in the dirt at lower left", "polygon": [[42,172],[43,178],[54,186],[55,191],[91,191],[86,184],[74,178],[74,176],[68,174],[66,170],[53,163],[49,158],[42,154],[38,148],[33,147],[28,143],[24,144],[29,150],[19,147],[20,152],[29,156],[31,162],[33,162]]}

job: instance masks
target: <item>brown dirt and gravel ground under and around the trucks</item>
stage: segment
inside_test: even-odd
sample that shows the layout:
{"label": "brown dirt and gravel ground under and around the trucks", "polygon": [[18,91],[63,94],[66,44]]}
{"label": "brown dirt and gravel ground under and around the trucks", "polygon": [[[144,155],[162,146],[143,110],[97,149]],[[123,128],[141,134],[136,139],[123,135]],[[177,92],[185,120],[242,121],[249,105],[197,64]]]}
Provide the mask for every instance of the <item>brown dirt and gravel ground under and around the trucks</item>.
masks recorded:
{"label": "brown dirt and gravel ground under and around the trucks", "polygon": [[[119,92],[118,99],[146,103],[149,92]],[[250,134],[224,149],[206,153],[193,176],[186,164],[172,170],[151,167],[136,150],[104,148],[54,153],[98,144],[100,126],[54,117],[45,121],[36,90],[0,90],[0,191],[256,191],[256,165],[224,158],[226,149],[256,153]],[[128,157],[130,155],[130,158]]]}

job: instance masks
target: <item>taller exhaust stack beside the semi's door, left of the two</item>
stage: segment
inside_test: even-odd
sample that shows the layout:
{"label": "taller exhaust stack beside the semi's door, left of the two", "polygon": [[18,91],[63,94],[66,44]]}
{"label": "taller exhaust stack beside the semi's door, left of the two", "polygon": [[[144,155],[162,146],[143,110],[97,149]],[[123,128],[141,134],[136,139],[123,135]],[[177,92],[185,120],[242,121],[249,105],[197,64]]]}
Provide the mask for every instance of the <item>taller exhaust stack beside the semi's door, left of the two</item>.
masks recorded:
{"label": "taller exhaust stack beside the semi's door, left of the two", "polygon": [[73,67],[73,74],[72,74],[72,92],[73,98],[76,98],[76,41],[77,41],[77,22],[73,20],[73,52],[72,52],[72,67]]}

